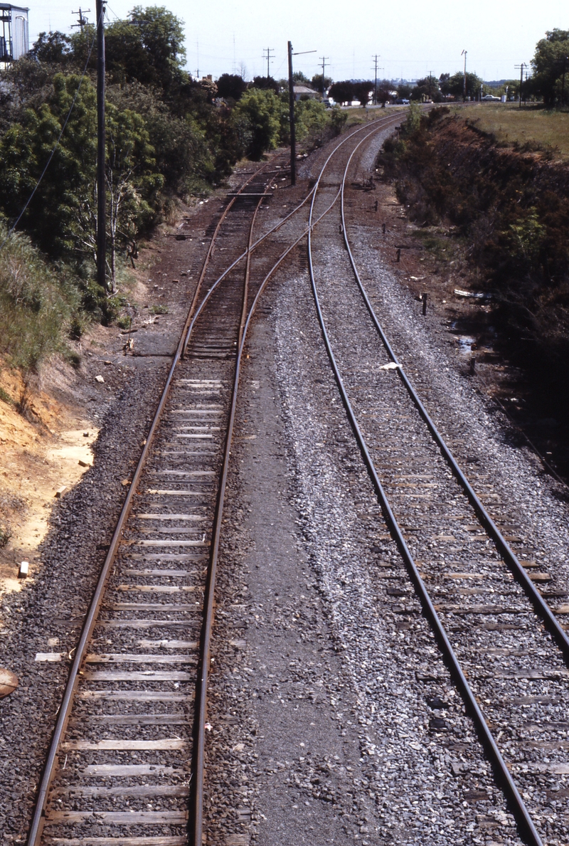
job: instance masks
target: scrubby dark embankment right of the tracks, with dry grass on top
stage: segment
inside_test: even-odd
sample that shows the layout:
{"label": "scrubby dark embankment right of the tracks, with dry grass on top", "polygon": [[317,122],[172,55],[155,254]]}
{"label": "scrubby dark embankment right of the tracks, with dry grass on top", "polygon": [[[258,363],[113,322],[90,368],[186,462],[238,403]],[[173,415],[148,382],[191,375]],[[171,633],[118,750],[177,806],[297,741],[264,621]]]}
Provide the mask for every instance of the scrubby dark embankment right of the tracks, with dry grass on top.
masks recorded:
{"label": "scrubby dark embankment right of the tracks, with dry grass on top", "polygon": [[566,127],[569,115],[534,107],[413,109],[378,162],[424,247],[453,253],[461,275],[491,294],[504,349],[560,420],[569,413]]}

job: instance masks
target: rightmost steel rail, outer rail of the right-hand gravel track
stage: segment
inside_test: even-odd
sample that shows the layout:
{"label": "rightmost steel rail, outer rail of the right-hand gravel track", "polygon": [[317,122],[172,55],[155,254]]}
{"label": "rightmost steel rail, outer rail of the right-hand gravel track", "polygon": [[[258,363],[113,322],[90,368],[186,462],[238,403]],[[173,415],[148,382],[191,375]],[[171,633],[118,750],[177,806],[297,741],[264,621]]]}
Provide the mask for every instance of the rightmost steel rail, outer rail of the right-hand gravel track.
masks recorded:
{"label": "rightmost steel rail, outer rail of the right-hand gravel track", "polygon": [[[365,140],[365,139],[364,139]],[[364,143],[364,140],[360,141],[360,144]],[[358,146],[360,146],[358,144]],[[381,342],[386,348],[386,352],[389,355],[391,361],[394,364],[397,364],[397,371],[399,373],[399,378],[401,379],[403,385],[405,386],[409,396],[413,400],[413,404],[419,410],[419,414],[423,418],[424,422],[429,429],[433,439],[436,442],[436,445],[440,449],[443,457],[446,459],[446,463],[449,465],[453,475],[457,478],[458,483],[462,487],[462,490],[465,492],[466,496],[468,497],[469,503],[473,506],[474,511],[478,515],[480,523],[484,526],[487,534],[490,535],[492,540],[495,542],[496,549],[501,553],[502,558],[504,558],[505,563],[507,564],[508,568],[511,570],[514,578],[517,580],[519,585],[522,585],[523,590],[526,592],[528,599],[532,602],[535,611],[539,614],[539,617],[543,619],[544,624],[546,625],[547,629],[552,634],[555,642],[560,647],[561,651],[563,652],[565,658],[569,658],[569,636],[567,636],[564,629],[562,629],[559,621],[555,617],[555,614],[551,610],[549,604],[545,602],[544,597],[541,596],[538,589],[533,585],[533,581],[529,578],[528,574],[526,573],[525,569],[523,569],[522,564],[520,563],[519,559],[515,552],[513,552],[512,548],[506,541],[506,538],[501,534],[500,529],[498,529],[497,525],[495,525],[494,520],[490,517],[490,514],[484,508],[483,503],[480,502],[479,497],[477,496],[476,492],[474,492],[473,487],[471,486],[470,482],[468,481],[466,475],[462,472],[461,468],[457,463],[457,459],[451,453],[450,448],[446,445],[444,438],[440,435],[440,432],[435,426],[434,420],[429,416],[429,412],[425,409],[424,404],[421,402],[418,393],[413,388],[413,385],[408,379],[407,374],[403,370],[403,366],[400,361],[397,360],[397,355],[395,354],[394,350],[389,343],[386,333],[383,331],[383,327],[380,325],[380,321],[377,319],[375,315],[375,311],[369,302],[368,294],[364,288],[364,284],[359,277],[358,268],[353,258],[353,252],[349,244],[349,239],[347,237],[346,231],[346,218],[345,218],[345,206],[344,206],[344,190],[346,185],[346,178],[347,178],[347,169],[349,168],[350,162],[352,161],[353,155],[358,149],[358,146],[354,148],[352,155],[350,156],[346,169],[344,171],[344,176],[342,179],[342,201],[341,201],[341,210],[342,210],[342,235],[344,239],[344,244],[346,245],[347,255],[350,260],[350,264],[352,266],[353,275],[358,283],[358,288],[362,297],[364,299],[365,307],[369,312],[369,316],[374,323],[375,329],[377,330],[378,334],[380,335]]]}

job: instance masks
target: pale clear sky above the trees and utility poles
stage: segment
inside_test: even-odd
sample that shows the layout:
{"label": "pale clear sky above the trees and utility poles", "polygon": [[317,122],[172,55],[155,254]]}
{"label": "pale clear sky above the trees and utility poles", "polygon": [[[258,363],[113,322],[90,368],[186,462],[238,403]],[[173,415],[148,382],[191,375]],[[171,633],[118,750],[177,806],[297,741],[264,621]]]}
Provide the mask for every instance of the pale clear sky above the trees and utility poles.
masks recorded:
{"label": "pale clear sky above the trees and utility poles", "polygon": [[[21,2],[21,0],[20,0]],[[28,0],[30,2],[30,0]],[[109,20],[123,18],[135,3],[110,0]],[[151,3],[141,3],[150,5]],[[23,5],[23,3],[22,3]],[[539,3],[457,3],[457,0],[408,0],[378,3],[359,0],[288,0],[267,5],[266,0],[224,0],[165,5],[183,19],[186,30],[188,69],[200,75],[239,73],[246,78],[266,74],[263,52],[274,51],[271,75],[287,75],[287,40],[295,51],[315,50],[294,59],[294,68],[308,77],[319,72],[326,57],[326,75],[334,80],[373,78],[373,58],[380,56],[380,77],[415,79],[429,74],[455,73],[462,69],[462,50],[468,51],[467,69],[484,80],[512,79],[514,65],[529,62],[545,30],[569,29],[569,7],[561,0]],[[95,0],[84,0],[95,19]],[[52,0],[30,5],[30,40],[42,30],[72,31],[77,0]],[[321,68],[321,64],[320,64]]]}

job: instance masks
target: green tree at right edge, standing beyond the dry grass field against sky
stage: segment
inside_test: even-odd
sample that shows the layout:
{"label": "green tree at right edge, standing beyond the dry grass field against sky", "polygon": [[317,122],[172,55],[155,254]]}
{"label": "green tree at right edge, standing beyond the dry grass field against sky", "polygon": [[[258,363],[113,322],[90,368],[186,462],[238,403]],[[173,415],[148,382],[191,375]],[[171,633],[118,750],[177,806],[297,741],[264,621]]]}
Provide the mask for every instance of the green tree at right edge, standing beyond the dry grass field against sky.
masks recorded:
{"label": "green tree at right edge, standing beyond the dry grass field against sky", "polygon": [[569,100],[569,31],[551,30],[538,41],[532,59],[533,91],[553,108]]}

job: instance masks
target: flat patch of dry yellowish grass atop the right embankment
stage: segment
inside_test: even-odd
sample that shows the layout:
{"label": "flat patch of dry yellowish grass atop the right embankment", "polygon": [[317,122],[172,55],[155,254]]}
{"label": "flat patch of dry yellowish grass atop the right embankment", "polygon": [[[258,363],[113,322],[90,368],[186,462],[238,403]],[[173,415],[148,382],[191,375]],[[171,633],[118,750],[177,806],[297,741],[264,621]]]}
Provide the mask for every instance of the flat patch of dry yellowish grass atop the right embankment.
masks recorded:
{"label": "flat patch of dry yellowish grass atop the right embankment", "polygon": [[481,103],[469,108],[464,117],[501,143],[523,146],[536,141],[569,157],[569,113],[549,112],[540,106],[520,108],[516,103]]}

